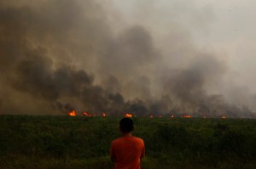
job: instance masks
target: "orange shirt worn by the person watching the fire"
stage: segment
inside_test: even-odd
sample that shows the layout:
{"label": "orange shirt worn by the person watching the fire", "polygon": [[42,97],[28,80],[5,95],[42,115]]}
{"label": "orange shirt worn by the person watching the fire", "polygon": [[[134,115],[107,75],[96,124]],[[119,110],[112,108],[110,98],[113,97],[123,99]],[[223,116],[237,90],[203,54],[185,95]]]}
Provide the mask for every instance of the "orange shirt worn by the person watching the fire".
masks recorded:
{"label": "orange shirt worn by the person watching the fire", "polygon": [[110,156],[115,159],[115,169],[140,169],[145,156],[143,139],[131,136],[113,140]]}

